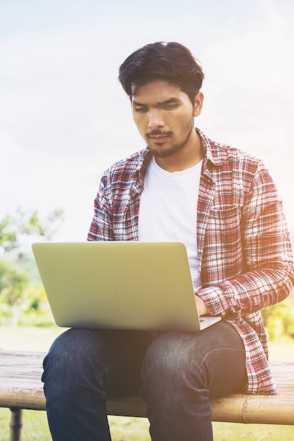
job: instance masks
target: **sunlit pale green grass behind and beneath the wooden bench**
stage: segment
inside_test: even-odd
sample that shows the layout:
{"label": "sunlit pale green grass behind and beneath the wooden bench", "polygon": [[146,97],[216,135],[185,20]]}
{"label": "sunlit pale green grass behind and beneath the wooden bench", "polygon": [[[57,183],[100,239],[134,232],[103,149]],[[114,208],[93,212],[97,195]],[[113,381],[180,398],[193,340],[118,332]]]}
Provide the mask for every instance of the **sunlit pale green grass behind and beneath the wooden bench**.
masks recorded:
{"label": "sunlit pale green grass behind and beneath the wooden bench", "polygon": [[[48,351],[51,342],[63,332],[53,328],[5,328],[0,327],[1,349],[22,349]],[[294,361],[294,342],[271,344],[272,360]],[[9,439],[11,411],[0,409],[0,441]],[[146,418],[110,416],[110,431],[113,441],[151,441]],[[255,424],[213,423],[215,441],[292,441],[294,426],[271,426]],[[23,412],[22,441],[51,441],[46,413],[41,411]]]}

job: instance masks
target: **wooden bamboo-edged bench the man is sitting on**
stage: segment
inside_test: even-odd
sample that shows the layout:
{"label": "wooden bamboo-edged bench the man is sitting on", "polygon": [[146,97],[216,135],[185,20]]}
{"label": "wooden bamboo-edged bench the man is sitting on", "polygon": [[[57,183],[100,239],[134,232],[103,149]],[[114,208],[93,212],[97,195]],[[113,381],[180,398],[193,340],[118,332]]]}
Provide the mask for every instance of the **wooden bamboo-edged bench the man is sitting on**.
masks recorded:
{"label": "wooden bamboo-edged bench the man is sitting on", "polygon": [[[11,409],[11,441],[20,441],[22,409],[45,410],[41,383],[43,352],[0,350],[0,407]],[[271,363],[277,395],[234,394],[212,399],[212,420],[294,425],[294,362]],[[139,397],[110,399],[108,414],[146,417]]]}

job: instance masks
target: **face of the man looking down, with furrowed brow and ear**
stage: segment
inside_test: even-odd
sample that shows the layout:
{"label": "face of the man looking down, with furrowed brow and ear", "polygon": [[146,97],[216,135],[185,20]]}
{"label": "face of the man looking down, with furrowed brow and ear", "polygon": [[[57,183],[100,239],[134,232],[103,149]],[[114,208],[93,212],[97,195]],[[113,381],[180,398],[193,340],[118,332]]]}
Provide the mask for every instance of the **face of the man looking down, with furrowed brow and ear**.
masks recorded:
{"label": "face of the man looking down, with furrowed brow and ear", "polygon": [[167,158],[193,142],[194,116],[200,114],[203,98],[198,95],[193,106],[188,95],[172,82],[154,80],[133,87],[134,122],[155,157]]}

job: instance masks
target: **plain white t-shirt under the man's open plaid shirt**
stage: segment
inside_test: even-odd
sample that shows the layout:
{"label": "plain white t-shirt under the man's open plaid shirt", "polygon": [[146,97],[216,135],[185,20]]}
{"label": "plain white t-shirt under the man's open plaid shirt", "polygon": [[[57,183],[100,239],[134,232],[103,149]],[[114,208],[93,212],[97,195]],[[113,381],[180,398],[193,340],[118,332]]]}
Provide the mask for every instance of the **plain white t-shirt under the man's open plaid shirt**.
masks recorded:
{"label": "plain white t-shirt under the man's open plaid shirt", "polygon": [[154,157],[148,166],[139,209],[139,240],[184,242],[194,290],[198,290],[197,203],[202,161],[170,173]]}

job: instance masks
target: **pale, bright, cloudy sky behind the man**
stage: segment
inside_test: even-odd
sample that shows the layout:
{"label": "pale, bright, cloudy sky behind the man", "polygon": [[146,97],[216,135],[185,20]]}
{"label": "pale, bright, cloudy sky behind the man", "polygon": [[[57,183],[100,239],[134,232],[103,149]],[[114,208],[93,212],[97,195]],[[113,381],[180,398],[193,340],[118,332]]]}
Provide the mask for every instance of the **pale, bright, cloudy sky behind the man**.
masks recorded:
{"label": "pale, bright, cloudy sky behind the man", "polygon": [[85,240],[101,173],[145,147],[117,71],[156,41],[205,72],[196,126],[261,158],[294,232],[294,0],[0,0],[0,219],[63,209]]}

